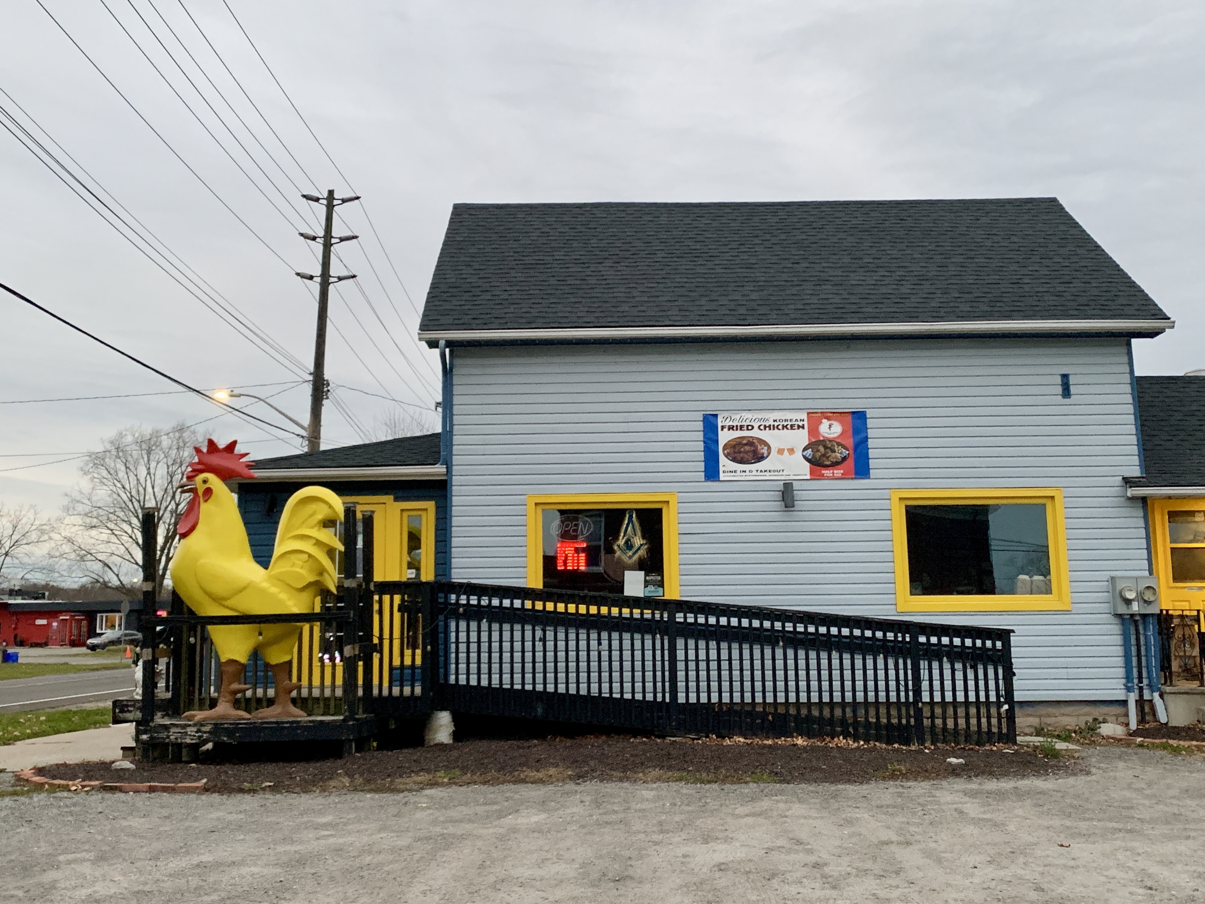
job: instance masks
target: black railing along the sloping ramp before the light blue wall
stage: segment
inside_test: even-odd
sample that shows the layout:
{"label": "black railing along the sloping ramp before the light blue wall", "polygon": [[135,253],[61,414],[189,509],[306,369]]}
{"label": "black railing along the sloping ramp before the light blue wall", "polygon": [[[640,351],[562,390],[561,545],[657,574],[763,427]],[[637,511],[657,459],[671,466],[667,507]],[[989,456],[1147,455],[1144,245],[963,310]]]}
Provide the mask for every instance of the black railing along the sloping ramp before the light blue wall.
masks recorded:
{"label": "black railing along the sloping ramp before the light blue wall", "polygon": [[893,744],[1016,738],[1004,629],[448,581],[377,581],[364,600],[375,662],[360,693],[377,715]]}

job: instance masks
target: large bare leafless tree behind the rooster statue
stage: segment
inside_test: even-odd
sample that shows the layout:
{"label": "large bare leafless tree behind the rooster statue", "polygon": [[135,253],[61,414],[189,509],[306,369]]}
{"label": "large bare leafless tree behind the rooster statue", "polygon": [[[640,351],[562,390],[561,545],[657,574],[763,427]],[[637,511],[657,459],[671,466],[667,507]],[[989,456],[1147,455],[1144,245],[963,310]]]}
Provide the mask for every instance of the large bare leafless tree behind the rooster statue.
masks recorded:
{"label": "large bare leafless tree behind the rooster statue", "polygon": [[83,581],[135,597],[142,580],[142,509],[159,509],[155,593],[176,551],[176,523],[188,499],[176,491],[200,436],[183,423],[167,429],[128,427],[104,440],[80,468],[67,493],[58,553]]}

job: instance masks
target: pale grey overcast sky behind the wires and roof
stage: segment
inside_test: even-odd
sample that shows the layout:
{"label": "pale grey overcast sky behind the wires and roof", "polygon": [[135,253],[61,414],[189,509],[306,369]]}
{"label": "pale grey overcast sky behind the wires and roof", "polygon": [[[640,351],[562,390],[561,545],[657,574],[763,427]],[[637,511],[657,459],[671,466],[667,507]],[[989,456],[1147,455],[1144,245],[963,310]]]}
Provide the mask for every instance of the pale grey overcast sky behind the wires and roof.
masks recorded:
{"label": "pale grey overcast sky behind the wires and roof", "polygon": [[[437,366],[413,333],[457,201],[1057,195],[1177,322],[1135,342],[1139,372],[1205,366],[1199,0],[230,0],[346,180],[222,0],[42,1],[147,122],[36,0],[0,12],[0,88],[11,95],[0,105],[45,129],[74,171],[87,170],[302,362],[315,306],[292,274],[317,264],[296,231],[318,229],[293,183],[364,196],[342,211],[346,231],[363,237],[336,271],[359,274],[368,298],[345,284],[346,304],[331,307],[363,360],[333,334],[328,371],[368,430],[399,407],[380,397],[429,417]],[[0,282],[181,380],[280,393],[272,401],[306,419],[293,371],[202,307],[7,131],[0,174]],[[2,403],[172,389],[8,297],[0,324]],[[249,410],[283,423],[260,404]],[[214,413],[181,394],[0,404],[0,499],[57,510],[78,465],[60,459],[125,425]],[[330,444],[360,440],[329,406],[325,423]],[[295,448],[229,415],[199,429],[236,436],[254,457]]]}

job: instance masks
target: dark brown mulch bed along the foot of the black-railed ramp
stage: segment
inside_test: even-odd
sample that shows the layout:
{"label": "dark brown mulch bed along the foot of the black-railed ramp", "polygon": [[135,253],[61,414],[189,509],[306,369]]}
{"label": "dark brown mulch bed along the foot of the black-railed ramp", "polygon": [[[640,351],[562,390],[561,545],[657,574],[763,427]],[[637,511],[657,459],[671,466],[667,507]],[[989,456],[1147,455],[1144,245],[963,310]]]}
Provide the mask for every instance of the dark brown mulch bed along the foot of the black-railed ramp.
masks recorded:
{"label": "dark brown mulch bed along the foot of the black-railed ramp", "polygon": [[[1012,752],[1006,752],[1006,750]],[[965,761],[947,763],[947,757]],[[37,771],[70,781],[196,782],[206,792],[418,791],[453,785],[581,781],[858,783],[950,777],[1022,779],[1078,771],[1075,757],[1033,749],[917,749],[856,741],[677,740],[636,736],[474,740],[293,763],[108,763]],[[118,776],[118,777],[114,777]]]}

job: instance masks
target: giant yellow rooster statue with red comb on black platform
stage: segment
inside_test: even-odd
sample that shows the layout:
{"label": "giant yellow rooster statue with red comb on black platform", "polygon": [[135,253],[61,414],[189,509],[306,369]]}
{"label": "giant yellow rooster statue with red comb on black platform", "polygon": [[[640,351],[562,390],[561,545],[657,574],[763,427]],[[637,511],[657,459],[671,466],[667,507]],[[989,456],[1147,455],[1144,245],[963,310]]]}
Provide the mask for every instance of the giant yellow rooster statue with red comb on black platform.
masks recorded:
{"label": "giant yellow rooster statue with red comb on black platform", "polygon": [[[268,568],[252,558],[247,529],[239,504],[223,481],[254,477],[243,462],[247,452],[235,452],[235,442],[206,450],[195,447],[181,489],[193,494],[176,532],[180,546],[171,560],[171,582],[188,607],[201,616],[281,615],[313,612],[323,589],[335,591],[331,550],[343,545],[324,526],[342,519],[342,503],[325,487],[302,487],[281,512],[276,547]],[[300,718],[306,714],[293,705],[293,652],[300,624],[210,626],[210,638],[222,663],[222,689],[211,710],[186,712],[184,718]],[[247,661],[259,651],[272,671],[276,702],[254,716],[235,709],[235,697],[249,691],[242,683]]]}

